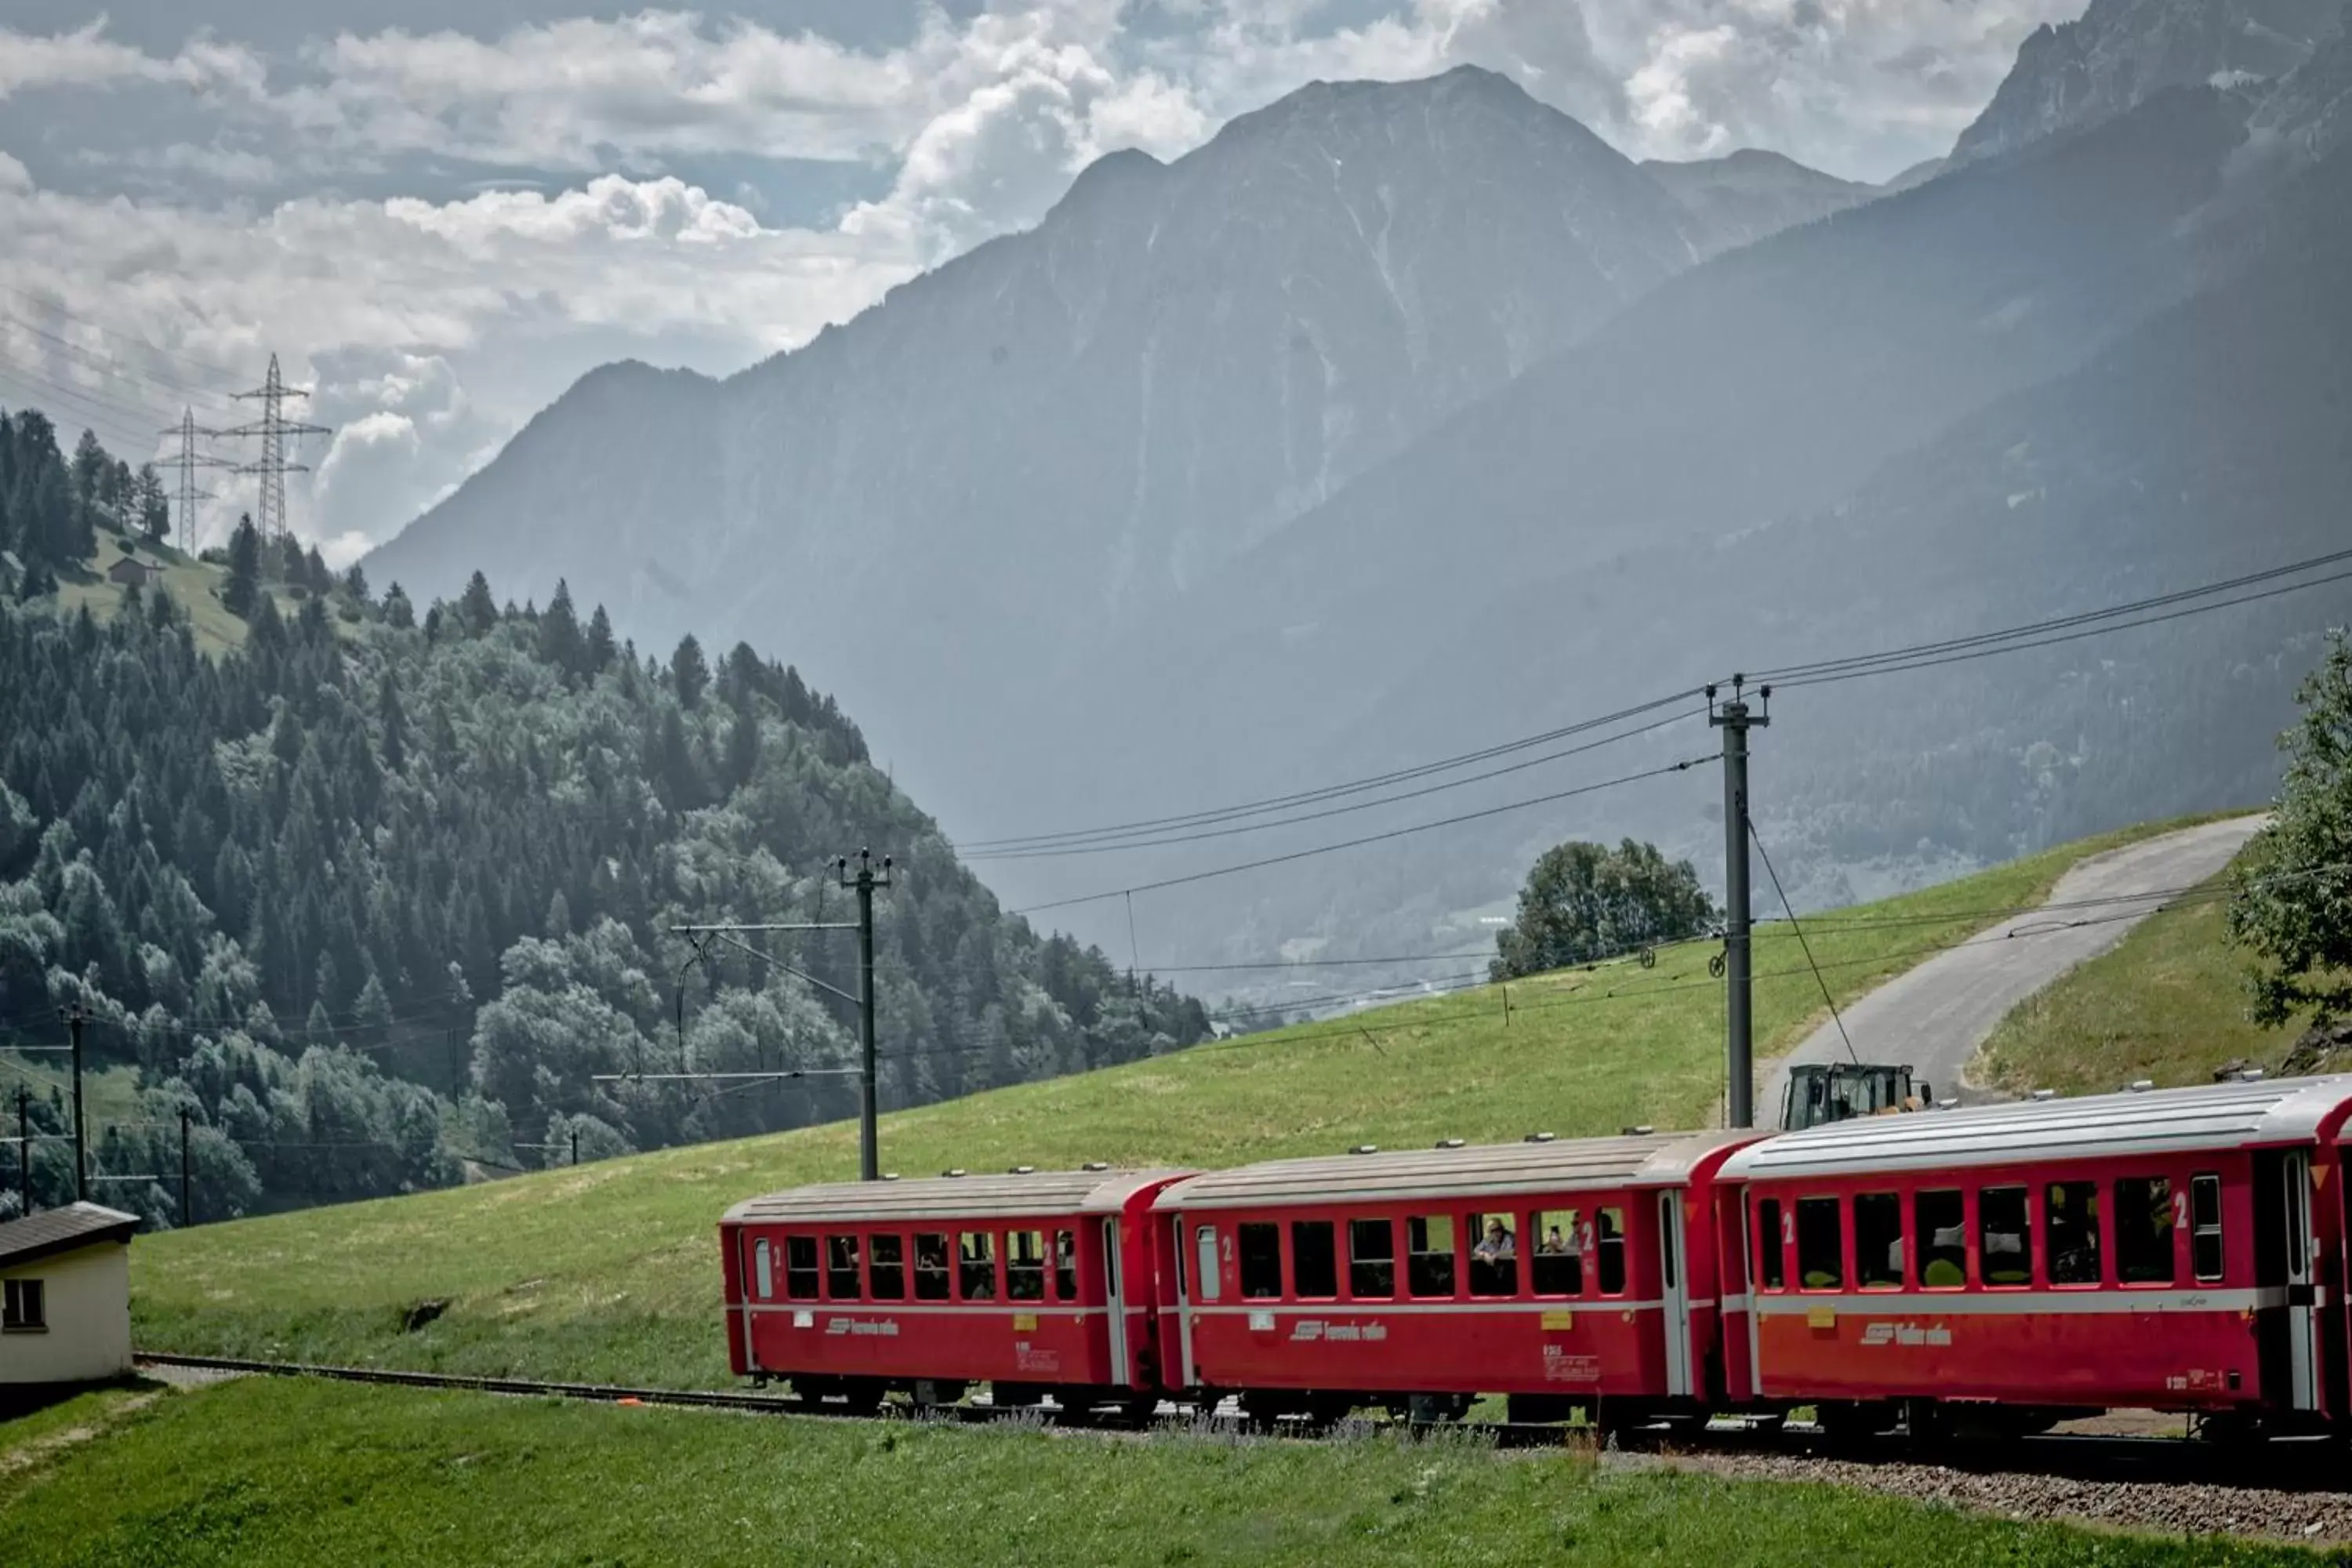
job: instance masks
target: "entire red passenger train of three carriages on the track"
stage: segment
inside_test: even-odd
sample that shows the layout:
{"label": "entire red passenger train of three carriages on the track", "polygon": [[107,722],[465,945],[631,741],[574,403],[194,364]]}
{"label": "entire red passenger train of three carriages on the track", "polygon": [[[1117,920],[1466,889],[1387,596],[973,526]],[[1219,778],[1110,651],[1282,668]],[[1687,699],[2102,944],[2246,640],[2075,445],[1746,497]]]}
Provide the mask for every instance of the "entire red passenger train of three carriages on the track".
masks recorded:
{"label": "entire red passenger train of three carriages on the track", "polygon": [[727,1213],[736,1373],[1143,1415],[1813,1406],[2352,1429],[2352,1077],[1842,1121],[800,1187]]}

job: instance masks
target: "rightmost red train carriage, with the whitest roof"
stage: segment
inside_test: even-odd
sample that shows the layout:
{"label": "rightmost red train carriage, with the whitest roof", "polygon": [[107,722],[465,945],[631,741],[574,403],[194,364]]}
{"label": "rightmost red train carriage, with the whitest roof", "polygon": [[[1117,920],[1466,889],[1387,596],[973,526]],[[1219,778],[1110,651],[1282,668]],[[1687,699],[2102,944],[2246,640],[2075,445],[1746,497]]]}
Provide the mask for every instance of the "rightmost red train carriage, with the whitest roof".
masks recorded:
{"label": "rightmost red train carriage, with the whitest roof", "polygon": [[[1856,1429],[2343,1425],[2352,1077],[1842,1121],[1722,1171],[1731,1387]],[[1729,1262],[1729,1258],[1726,1258]],[[1733,1300],[1733,1305],[1740,1305]]]}

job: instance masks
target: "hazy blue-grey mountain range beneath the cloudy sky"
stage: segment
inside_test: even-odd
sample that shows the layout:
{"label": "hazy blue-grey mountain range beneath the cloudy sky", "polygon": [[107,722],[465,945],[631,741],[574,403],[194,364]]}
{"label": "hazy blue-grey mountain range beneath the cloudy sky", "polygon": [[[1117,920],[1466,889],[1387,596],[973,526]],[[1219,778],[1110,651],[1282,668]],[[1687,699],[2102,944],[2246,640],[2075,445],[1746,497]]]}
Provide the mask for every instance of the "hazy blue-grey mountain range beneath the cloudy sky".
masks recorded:
{"label": "hazy blue-grey mountain range beneath the cloudy sky", "polygon": [[[2296,555],[2340,494],[2340,24],[2093,0],[1889,188],[1771,153],[1635,165],[1470,68],[1312,85],[1169,165],[1105,158],[1035,230],[739,376],[590,374],[367,571],[569,578],[640,642],[783,644],[967,835],[2178,588]],[[1759,773],[1792,896],[2258,795],[2307,614],[1853,686]],[[1545,780],[1573,783],[1439,804]],[[1708,797],[1155,893],[1150,945],[1446,940],[1550,835],[1703,851]],[[1435,813],[983,870],[1051,903]],[[1110,910],[1054,919],[1110,936]]]}

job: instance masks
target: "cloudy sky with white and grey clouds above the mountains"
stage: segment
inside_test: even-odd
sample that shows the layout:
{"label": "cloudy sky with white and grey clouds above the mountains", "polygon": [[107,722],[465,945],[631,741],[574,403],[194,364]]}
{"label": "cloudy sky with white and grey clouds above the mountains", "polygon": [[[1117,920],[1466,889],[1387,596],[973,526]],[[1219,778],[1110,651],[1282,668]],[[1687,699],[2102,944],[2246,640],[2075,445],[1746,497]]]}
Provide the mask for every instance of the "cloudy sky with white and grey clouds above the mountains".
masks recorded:
{"label": "cloudy sky with white and grey clouds above the mountains", "polygon": [[[350,559],[614,357],[724,374],[1315,78],[1508,71],[1635,158],[1940,155],[2082,0],[9,0],[0,404],[134,458],[278,353]],[[176,449],[176,444],[172,447]],[[235,456],[238,447],[216,447]],[[647,454],[649,461],[654,454]],[[249,508],[216,477],[207,529]]]}

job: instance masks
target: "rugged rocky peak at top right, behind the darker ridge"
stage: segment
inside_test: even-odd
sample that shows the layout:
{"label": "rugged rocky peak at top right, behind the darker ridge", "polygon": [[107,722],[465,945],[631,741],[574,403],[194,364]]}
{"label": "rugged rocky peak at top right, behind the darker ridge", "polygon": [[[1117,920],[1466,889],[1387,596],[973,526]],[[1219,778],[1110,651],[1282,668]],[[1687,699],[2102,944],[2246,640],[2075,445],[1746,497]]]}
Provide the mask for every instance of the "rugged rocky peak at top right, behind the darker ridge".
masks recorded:
{"label": "rugged rocky peak at top right, behind the darker ridge", "polygon": [[2034,28],[1955,158],[2011,153],[2166,87],[2281,78],[2345,21],[2345,0],[2091,0]]}

